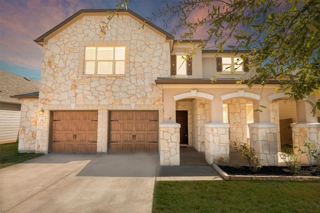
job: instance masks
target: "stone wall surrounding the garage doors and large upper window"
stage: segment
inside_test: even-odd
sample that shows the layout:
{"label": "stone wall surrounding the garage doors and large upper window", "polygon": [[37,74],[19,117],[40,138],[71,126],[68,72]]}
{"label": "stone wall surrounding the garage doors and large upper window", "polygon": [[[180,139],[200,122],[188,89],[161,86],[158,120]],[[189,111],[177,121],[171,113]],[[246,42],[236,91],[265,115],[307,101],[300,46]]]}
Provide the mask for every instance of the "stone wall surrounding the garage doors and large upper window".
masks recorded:
{"label": "stone wall surrounding the garage doors and large upper window", "polygon": [[[129,15],[119,15],[102,35],[99,25],[106,17],[83,16],[43,46],[38,108],[46,122],[37,124],[36,152],[48,152],[51,110],[97,110],[97,152],[106,152],[108,110],[158,110],[163,121],[162,88],[154,80],[169,76],[169,43]],[[107,45],[125,46],[125,74],[85,75],[85,46]]]}

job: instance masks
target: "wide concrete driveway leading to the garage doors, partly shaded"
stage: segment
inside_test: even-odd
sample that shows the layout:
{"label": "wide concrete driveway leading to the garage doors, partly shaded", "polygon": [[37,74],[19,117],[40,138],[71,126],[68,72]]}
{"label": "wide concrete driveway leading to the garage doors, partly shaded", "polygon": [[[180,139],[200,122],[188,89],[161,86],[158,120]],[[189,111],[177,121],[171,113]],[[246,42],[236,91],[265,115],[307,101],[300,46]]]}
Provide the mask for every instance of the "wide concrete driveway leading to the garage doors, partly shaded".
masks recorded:
{"label": "wide concrete driveway leading to the garage doors, partly shaded", "polygon": [[0,212],[150,213],[158,162],[158,155],[44,155],[0,170]]}

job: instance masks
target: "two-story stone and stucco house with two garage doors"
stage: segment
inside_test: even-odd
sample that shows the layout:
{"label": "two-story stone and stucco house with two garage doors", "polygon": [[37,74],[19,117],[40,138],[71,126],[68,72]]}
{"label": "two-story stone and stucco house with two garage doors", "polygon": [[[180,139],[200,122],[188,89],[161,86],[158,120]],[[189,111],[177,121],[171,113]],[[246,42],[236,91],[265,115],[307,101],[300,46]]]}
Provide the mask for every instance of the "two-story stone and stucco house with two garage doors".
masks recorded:
{"label": "two-story stone and stucco house with two garage doors", "polygon": [[[237,86],[254,74],[249,59],[199,49],[184,60],[186,42],[177,45],[131,10],[119,10],[103,34],[106,11],[113,10],[80,10],[34,40],[43,47],[41,89],[15,96],[22,101],[19,152],[158,153],[161,165],[179,165],[180,146],[192,146],[208,164],[221,164],[236,143],[277,165],[277,101],[285,96],[275,94],[276,80]],[[253,112],[259,105],[267,108]],[[319,142],[307,107],[297,103],[295,143]]]}

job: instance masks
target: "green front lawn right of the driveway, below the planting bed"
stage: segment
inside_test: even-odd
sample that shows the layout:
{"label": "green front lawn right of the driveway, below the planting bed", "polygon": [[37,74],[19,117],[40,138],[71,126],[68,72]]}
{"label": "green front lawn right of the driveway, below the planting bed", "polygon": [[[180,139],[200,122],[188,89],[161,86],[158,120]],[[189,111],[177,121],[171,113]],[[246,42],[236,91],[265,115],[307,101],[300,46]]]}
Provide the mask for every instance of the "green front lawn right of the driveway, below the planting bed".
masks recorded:
{"label": "green front lawn right of the driveway, below the planting bed", "polygon": [[318,213],[319,196],[317,182],[156,182],[152,213]]}

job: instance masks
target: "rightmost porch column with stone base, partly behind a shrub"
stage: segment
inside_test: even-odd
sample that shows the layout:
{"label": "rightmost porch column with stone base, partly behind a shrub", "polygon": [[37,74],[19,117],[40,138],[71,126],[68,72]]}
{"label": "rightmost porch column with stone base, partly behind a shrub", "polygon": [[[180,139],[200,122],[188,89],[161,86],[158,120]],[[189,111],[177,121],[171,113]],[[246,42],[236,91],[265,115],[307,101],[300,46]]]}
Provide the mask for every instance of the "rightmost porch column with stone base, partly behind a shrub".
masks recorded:
{"label": "rightmost porch column with stone base, partly behind a shrub", "polygon": [[[315,103],[314,96],[308,96],[307,98],[312,103]],[[302,151],[306,151],[303,142],[312,141],[313,145],[320,151],[320,123],[317,123],[316,117],[312,116],[311,105],[305,100],[299,100],[296,102],[296,117],[297,123],[291,124],[292,127],[292,139],[293,147],[299,147]],[[294,154],[300,156],[301,153],[298,149],[293,149]],[[300,160],[302,164],[308,165],[308,159],[306,155],[301,155]],[[316,165],[316,161],[311,162],[312,165]]]}

